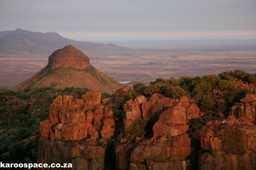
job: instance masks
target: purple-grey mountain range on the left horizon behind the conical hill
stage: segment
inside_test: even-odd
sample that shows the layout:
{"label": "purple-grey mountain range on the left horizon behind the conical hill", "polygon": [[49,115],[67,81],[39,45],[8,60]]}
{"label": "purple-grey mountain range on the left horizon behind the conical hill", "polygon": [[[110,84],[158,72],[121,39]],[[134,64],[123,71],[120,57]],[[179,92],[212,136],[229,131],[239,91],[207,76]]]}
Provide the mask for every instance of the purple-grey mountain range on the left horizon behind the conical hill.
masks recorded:
{"label": "purple-grey mountain range on the left horizon behind the conical hill", "polygon": [[93,42],[80,42],[64,38],[56,32],[32,32],[23,29],[0,32],[0,53],[8,54],[20,51],[35,53],[51,53],[66,45],[73,45],[80,50],[104,49],[121,50],[126,49],[115,44],[102,44]]}

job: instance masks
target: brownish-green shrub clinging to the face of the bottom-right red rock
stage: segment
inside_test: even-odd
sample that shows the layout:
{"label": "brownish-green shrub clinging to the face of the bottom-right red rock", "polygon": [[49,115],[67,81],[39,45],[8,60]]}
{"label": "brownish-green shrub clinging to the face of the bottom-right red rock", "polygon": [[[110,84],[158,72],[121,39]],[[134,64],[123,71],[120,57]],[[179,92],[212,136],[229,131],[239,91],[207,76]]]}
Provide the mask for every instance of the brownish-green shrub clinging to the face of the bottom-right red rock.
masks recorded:
{"label": "brownish-green shrub clinging to the face of the bottom-right red rock", "polygon": [[226,153],[243,154],[243,137],[239,131],[225,130],[225,134],[220,136],[222,149]]}

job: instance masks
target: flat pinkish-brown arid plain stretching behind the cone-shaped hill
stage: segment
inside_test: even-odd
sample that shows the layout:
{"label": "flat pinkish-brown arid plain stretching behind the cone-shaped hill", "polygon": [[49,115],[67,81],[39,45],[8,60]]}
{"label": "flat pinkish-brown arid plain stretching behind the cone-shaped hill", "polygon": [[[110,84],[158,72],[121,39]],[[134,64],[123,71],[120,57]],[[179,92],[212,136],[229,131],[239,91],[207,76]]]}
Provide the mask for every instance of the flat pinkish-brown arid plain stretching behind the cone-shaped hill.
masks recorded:
{"label": "flat pinkish-brown arid plain stretching behind the cone-shaped hill", "polygon": [[[256,72],[256,51],[127,49],[83,52],[95,68],[119,82],[149,83],[158,77],[194,77],[235,69]],[[10,89],[36,74],[46,66],[49,55],[0,54],[0,88]]]}

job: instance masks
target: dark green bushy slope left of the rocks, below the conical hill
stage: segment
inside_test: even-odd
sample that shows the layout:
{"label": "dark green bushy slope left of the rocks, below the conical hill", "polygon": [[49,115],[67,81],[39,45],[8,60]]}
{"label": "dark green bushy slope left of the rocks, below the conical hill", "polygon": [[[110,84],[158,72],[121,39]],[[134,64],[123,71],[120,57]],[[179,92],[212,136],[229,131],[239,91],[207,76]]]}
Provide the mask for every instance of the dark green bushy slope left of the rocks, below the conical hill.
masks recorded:
{"label": "dark green bushy slope left of the rocks, below the conical hill", "polygon": [[0,90],[0,161],[20,163],[30,157],[36,163],[39,122],[48,119],[50,103],[58,95],[81,98],[86,90],[73,87]]}

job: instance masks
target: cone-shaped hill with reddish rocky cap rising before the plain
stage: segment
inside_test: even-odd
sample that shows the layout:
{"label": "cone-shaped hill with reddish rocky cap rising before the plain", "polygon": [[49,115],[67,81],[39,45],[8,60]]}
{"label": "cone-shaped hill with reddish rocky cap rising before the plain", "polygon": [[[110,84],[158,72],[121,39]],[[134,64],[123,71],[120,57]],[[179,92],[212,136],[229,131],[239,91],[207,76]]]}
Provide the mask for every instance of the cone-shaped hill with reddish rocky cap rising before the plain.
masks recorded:
{"label": "cone-shaped hill with reddish rocky cap rising before the plain", "polygon": [[89,57],[72,45],[58,49],[49,56],[46,67],[12,90],[40,87],[64,89],[81,87],[114,93],[122,85],[90,64]]}

